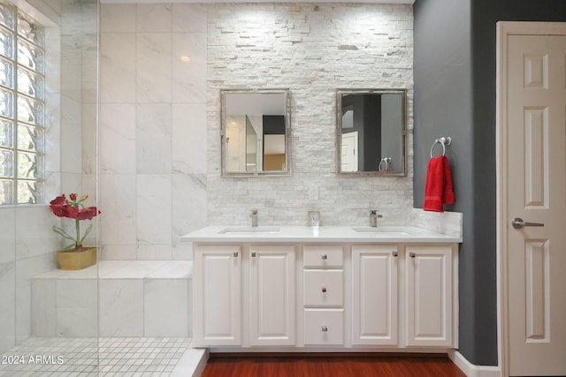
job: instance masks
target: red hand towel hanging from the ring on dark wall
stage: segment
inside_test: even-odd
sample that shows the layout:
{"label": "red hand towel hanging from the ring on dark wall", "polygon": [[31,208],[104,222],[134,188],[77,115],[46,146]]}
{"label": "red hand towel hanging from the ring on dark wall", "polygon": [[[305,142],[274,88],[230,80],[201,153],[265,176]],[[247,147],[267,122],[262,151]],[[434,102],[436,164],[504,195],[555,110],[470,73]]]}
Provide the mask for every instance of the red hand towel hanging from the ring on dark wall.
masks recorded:
{"label": "red hand towel hanging from the ring on dark wall", "polygon": [[423,209],[444,212],[442,205],[453,204],[454,201],[452,173],[446,155],[431,158],[426,170]]}

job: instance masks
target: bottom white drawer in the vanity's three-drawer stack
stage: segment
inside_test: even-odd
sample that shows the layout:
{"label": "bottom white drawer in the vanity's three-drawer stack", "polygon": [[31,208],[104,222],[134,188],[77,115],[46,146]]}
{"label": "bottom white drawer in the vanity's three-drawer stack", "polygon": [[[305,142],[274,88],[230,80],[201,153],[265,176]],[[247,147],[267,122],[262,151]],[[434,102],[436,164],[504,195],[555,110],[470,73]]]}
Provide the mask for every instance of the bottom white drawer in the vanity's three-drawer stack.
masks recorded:
{"label": "bottom white drawer in the vanity's three-drawer stack", "polygon": [[344,343],[344,309],[305,309],[304,343]]}

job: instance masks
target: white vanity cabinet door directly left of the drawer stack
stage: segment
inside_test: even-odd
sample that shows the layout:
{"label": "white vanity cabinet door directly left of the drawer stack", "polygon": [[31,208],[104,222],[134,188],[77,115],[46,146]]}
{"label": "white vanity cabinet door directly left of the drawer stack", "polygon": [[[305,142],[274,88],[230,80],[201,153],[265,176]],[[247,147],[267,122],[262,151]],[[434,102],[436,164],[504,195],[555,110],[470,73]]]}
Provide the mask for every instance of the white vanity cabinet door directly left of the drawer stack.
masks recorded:
{"label": "white vanity cabinet door directly left of the drawer stack", "polygon": [[294,246],[249,249],[249,343],[295,343]]}

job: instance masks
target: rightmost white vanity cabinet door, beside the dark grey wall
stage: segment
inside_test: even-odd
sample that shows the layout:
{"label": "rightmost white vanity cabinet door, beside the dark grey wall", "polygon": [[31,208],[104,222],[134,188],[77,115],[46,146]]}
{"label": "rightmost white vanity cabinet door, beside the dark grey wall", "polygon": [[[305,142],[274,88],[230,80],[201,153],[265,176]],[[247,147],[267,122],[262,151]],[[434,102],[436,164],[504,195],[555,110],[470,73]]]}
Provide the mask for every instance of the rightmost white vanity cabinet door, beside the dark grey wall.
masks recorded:
{"label": "rightmost white vanity cabinet door, beside the dark grey wall", "polygon": [[452,345],[452,247],[407,246],[407,345]]}

